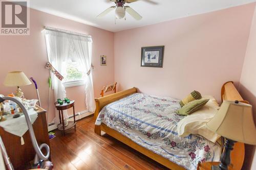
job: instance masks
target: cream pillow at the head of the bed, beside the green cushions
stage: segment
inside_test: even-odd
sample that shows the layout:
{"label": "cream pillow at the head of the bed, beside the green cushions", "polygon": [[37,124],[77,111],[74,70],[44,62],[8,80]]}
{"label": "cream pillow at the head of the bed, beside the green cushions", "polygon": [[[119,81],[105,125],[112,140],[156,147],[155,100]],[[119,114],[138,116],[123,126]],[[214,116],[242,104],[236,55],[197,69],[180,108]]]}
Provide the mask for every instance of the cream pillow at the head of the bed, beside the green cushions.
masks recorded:
{"label": "cream pillow at the head of the bed, beside the green cushions", "polygon": [[198,134],[215,143],[221,136],[206,128],[205,125],[215,116],[220,107],[212,96],[203,96],[202,98],[210,98],[210,100],[200,110],[180,120],[177,124],[177,133],[182,137]]}

